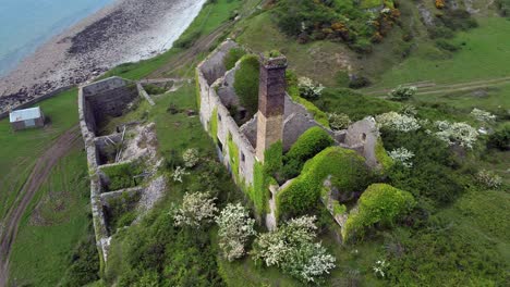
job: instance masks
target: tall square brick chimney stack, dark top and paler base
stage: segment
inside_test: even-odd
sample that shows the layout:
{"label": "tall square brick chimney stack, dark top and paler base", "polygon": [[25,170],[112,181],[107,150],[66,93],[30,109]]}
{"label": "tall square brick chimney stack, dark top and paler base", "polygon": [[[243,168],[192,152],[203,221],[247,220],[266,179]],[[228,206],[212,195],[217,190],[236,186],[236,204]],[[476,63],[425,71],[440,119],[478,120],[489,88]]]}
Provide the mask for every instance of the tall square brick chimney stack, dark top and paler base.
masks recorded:
{"label": "tall square brick chimney stack, dark top and paler base", "polygon": [[264,162],[264,151],[283,138],[287,58],[262,55],[258,89],[256,155]]}

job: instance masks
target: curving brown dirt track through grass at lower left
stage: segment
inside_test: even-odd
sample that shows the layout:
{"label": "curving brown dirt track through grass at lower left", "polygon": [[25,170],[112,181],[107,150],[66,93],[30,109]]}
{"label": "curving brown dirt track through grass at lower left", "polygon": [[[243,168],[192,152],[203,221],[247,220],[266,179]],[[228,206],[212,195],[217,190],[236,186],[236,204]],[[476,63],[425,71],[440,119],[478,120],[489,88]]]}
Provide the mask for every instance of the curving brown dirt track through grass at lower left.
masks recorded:
{"label": "curving brown dirt track through grass at lower left", "polygon": [[31,203],[34,195],[48,178],[51,169],[80,141],[80,128],[74,126],[60,136],[49,149],[47,149],[34,165],[26,183],[19,194],[19,204],[11,208],[5,216],[3,232],[0,234],[0,287],[7,286],[9,272],[9,255],[20,227],[20,222]]}

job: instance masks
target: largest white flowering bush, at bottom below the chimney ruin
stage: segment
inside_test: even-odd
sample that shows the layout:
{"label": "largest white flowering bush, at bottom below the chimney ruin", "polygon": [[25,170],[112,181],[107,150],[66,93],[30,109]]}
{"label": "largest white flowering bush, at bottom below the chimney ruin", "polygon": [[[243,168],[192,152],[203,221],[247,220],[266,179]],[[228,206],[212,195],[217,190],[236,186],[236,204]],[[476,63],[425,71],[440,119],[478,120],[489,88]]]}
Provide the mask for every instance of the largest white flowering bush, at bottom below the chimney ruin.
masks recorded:
{"label": "largest white flowering bush, at bottom below the chimney ruin", "polygon": [[279,266],[303,282],[315,282],[335,267],[336,259],[328,254],[316,237],[315,216],[293,219],[278,230],[262,234],[252,251],[255,261]]}

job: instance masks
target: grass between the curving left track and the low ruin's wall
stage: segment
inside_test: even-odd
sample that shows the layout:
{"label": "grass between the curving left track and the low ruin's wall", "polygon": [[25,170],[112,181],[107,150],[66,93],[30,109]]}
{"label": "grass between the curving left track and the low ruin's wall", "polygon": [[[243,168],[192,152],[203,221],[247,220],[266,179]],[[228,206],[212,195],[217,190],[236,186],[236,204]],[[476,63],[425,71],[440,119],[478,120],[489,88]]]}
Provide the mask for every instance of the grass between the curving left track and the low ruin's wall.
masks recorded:
{"label": "grass between the curving left track and the low ruin's wall", "polygon": [[10,282],[57,286],[88,234],[86,155],[75,148],[52,169],[23,215],[10,258]]}

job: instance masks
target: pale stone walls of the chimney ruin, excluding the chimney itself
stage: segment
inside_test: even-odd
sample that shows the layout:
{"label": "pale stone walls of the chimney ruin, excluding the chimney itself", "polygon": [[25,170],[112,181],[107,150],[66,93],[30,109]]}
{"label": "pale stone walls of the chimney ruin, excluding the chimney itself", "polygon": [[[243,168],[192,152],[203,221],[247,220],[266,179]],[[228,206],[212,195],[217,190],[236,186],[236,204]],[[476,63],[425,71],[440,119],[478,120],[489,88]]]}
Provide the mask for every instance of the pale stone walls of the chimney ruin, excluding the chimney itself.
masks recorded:
{"label": "pale stone walls of the chimney ruin, excluding the chimney itself", "polygon": [[[223,64],[228,51],[235,47],[239,47],[235,42],[227,40],[198,64],[196,68],[199,89],[197,100],[201,122],[217,142],[218,149],[221,151],[220,160],[231,169],[232,159],[239,159],[239,171],[232,171],[232,176],[239,180],[238,185],[246,187],[242,185],[253,185],[254,183],[254,164],[258,162],[255,155],[258,114],[239,127],[226,108],[228,104],[239,102],[233,84],[234,74],[238,72],[240,63],[238,62],[231,71],[226,71]],[[353,149],[365,157],[369,166],[374,167],[378,164],[375,158],[378,132],[372,117],[354,123],[347,130],[333,132],[318,124],[306,108],[292,101],[289,95],[286,95],[282,121],[284,150],[289,150],[308,128],[319,126],[336,139],[337,145]],[[230,149],[229,145],[235,146],[236,149]],[[230,154],[231,150],[238,150],[239,154]],[[268,222],[271,226],[275,224],[270,219]]]}

